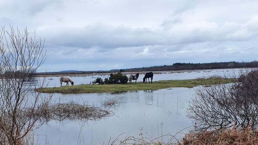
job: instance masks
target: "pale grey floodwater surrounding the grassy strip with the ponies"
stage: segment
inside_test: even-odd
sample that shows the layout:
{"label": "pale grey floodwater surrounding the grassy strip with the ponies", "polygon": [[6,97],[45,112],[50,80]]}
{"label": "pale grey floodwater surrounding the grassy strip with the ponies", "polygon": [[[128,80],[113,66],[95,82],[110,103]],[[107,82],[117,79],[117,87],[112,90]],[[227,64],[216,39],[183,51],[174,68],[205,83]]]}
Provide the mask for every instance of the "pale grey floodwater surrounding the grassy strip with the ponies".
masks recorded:
{"label": "pale grey floodwater surrounding the grassy strip with the ponies", "polygon": [[[157,80],[179,80],[208,77],[213,75],[238,73],[239,69],[202,70],[184,73],[154,74]],[[75,85],[88,84],[95,77],[108,76],[84,76],[70,77]],[[144,75],[140,75],[142,81]],[[49,87],[59,86],[58,77],[51,77]],[[107,143],[111,138],[116,138],[121,133],[121,140],[125,136],[155,138],[162,134],[176,134],[176,132],[190,127],[191,121],[187,118],[187,104],[194,95],[194,88],[169,88],[156,91],[131,91],[119,94],[89,93],[89,94],[57,94],[53,101],[87,101],[90,105],[102,107],[101,102],[115,98],[121,102],[116,107],[108,108],[113,111],[113,116],[101,120],[52,120],[45,123],[39,130],[38,138],[41,143],[48,140],[49,144],[100,144]],[[188,128],[190,129],[190,128]],[[185,129],[182,133],[187,132]],[[180,136],[178,136],[180,138]],[[181,134],[183,137],[183,134]],[[111,139],[112,140],[112,139]]]}

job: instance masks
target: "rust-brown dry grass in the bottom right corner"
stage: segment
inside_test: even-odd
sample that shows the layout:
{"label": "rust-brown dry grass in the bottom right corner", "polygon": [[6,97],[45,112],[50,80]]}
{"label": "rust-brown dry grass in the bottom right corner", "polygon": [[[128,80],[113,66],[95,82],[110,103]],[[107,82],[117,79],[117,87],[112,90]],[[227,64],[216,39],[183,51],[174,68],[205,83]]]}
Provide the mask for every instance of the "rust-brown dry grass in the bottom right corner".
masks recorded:
{"label": "rust-brown dry grass in the bottom right corner", "polygon": [[221,129],[185,134],[183,145],[253,145],[258,144],[258,131],[251,128]]}

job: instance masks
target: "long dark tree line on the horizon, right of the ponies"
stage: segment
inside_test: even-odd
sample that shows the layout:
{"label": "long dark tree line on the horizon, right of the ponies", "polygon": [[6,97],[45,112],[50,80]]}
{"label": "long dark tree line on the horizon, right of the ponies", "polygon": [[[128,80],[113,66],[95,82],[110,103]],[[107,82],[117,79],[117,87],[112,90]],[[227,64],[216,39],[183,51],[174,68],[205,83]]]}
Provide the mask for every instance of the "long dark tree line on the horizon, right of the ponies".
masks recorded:
{"label": "long dark tree line on the horizon, right of the ponies", "polygon": [[223,69],[223,68],[255,68],[258,61],[252,62],[211,62],[211,63],[173,63],[173,65],[160,65],[142,68],[123,69],[124,72],[140,71],[179,71],[198,69]]}

